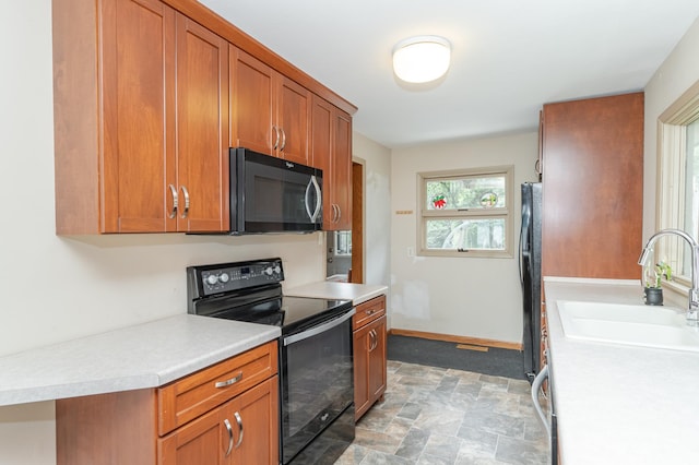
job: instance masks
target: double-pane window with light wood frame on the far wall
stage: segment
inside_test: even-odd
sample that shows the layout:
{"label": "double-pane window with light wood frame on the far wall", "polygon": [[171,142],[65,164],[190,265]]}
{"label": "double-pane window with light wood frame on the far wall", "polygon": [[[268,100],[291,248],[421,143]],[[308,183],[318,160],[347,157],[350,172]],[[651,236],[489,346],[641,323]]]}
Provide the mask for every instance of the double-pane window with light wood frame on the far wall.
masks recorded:
{"label": "double-pane window with light wood frame on the far wall", "polygon": [[418,174],[419,254],[512,257],[512,171]]}

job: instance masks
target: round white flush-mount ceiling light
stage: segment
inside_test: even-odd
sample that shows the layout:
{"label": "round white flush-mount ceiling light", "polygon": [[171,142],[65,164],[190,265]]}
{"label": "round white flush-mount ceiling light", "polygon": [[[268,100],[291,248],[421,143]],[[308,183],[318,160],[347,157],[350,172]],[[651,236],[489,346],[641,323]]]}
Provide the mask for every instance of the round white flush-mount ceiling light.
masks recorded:
{"label": "round white flush-mount ceiling light", "polygon": [[405,82],[435,81],[447,72],[451,59],[451,44],[439,36],[416,36],[393,47],[393,72]]}

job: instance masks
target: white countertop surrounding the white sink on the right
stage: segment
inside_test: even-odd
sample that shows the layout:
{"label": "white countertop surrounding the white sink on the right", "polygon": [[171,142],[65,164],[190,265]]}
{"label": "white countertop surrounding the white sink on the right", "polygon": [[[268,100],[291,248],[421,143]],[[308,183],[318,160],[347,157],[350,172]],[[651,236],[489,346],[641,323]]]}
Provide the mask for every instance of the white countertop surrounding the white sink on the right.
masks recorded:
{"label": "white countertop surrounding the white sink on the right", "polygon": [[565,336],[556,301],[642,303],[638,282],[545,278],[564,465],[699,463],[699,354]]}

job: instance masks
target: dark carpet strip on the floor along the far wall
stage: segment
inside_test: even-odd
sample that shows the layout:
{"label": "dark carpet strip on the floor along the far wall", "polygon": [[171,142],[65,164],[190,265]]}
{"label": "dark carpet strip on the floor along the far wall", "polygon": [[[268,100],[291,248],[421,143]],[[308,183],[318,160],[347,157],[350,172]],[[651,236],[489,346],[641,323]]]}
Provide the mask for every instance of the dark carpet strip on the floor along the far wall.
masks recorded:
{"label": "dark carpet strip on the floor along the far wall", "polygon": [[488,347],[488,351],[457,348],[457,343],[389,335],[388,359],[430,367],[453,368],[494,377],[525,380],[520,350]]}

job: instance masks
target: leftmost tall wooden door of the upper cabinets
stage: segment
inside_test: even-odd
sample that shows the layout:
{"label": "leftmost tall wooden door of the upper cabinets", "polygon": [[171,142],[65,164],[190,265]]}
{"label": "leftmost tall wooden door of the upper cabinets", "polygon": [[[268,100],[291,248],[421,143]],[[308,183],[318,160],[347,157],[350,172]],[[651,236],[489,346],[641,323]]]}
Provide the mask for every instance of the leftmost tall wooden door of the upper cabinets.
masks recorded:
{"label": "leftmost tall wooden door of the upper cabinets", "polygon": [[107,0],[102,17],[102,231],[175,230],[175,11]]}

